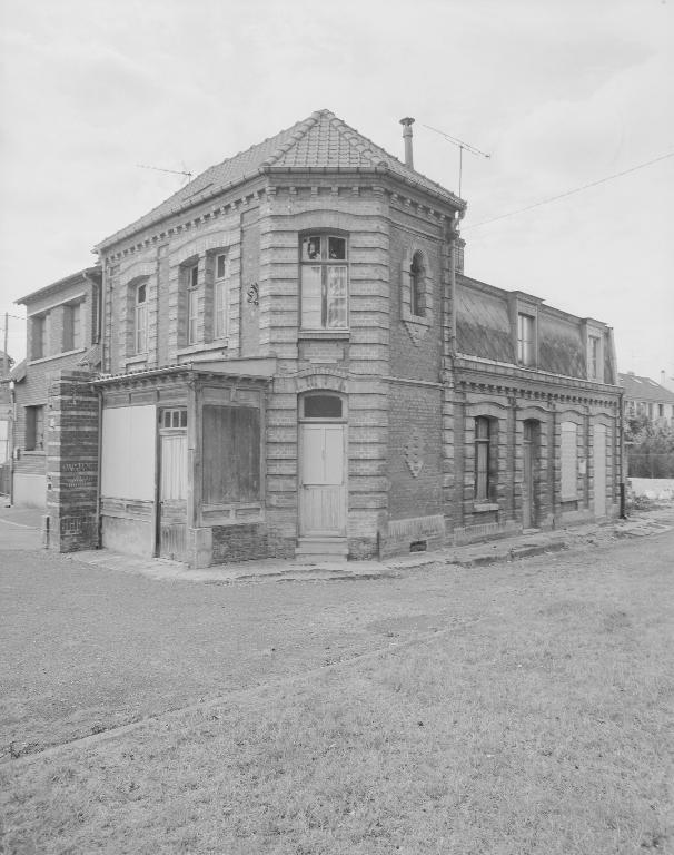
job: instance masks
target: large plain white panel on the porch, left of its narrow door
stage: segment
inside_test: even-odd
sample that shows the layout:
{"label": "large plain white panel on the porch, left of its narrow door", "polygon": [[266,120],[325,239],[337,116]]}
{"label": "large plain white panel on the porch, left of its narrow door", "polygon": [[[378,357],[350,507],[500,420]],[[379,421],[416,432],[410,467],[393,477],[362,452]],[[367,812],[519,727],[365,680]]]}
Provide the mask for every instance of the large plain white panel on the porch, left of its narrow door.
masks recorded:
{"label": "large plain white panel on the porch, left of its narrow door", "polygon": [[153,500],[155,420],[151,405],[103,410],[101,495]]}

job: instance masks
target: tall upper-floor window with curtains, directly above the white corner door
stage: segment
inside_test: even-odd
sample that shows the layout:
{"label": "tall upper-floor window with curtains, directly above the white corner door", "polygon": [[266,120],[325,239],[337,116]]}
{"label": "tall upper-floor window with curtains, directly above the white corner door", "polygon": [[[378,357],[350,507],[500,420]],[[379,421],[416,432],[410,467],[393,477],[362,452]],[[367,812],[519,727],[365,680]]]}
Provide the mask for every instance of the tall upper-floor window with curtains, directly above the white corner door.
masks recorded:
{"label": "tall upper-floor window with curtains, directly above the white corner door", "polygon": [[346,330],[346,238],[311,235],[301,239],[300,316],[305,330]]}

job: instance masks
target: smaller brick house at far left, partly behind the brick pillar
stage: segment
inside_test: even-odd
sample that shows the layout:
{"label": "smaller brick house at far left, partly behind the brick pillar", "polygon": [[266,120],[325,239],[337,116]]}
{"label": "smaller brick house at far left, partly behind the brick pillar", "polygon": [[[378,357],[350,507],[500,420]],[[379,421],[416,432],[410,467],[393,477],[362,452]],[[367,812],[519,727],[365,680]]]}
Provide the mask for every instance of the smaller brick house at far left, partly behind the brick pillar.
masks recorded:
{"label": "smaller brick house at far left, partly behind the brick pillar", "polygon": [[[14,387],[13,502],[44,508],[50,489],[47,429],[51,382],[59,372],[100,367],[101,271],[87,267],[17,301],[27,311],[27,357]],[[53,456],[57,456],[54,454]]]}

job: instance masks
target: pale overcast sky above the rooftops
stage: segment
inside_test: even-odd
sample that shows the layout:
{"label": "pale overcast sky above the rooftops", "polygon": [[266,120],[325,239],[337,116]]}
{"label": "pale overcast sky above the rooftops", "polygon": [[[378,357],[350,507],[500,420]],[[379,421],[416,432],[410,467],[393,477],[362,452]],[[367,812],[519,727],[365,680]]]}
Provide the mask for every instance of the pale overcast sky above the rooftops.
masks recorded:
{"label": "pale overcast sky above the rooftops", "polygon": [[[458,190],[466,273],[674,375],[672,0],[2,0],[0,312],[195,175],[324,107]],[[0,323],[2,323],[0,321]],[[24,353],[10,320],[10,353]],[[1,347],[0,342],[0,347]]]}

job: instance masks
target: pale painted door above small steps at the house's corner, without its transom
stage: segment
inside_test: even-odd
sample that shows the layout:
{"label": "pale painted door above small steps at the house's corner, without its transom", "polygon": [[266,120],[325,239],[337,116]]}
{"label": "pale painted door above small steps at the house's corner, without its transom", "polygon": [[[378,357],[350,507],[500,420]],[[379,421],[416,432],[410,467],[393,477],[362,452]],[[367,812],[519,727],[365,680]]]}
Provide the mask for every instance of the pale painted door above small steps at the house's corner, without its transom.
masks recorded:
{"label": "pale painted door above small steps at the house's corner, without its transom", "polygon": [[303,424],[299,485],[301,537],[346,535],[345,425]]}

